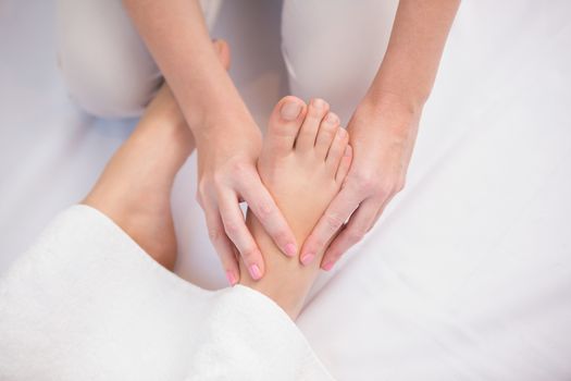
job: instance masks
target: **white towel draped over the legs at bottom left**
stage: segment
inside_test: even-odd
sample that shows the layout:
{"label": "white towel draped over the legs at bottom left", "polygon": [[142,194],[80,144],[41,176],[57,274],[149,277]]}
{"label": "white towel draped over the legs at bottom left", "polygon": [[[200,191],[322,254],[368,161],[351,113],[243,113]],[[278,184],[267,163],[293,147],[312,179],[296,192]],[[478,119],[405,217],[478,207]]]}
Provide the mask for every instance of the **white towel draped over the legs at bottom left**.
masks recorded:
{"label": "white towel draped over the legs at bottom left", "polygon": [[0,282],[0,327],[7,381],[331,380],[270,298],[181,280],[87,206]]}

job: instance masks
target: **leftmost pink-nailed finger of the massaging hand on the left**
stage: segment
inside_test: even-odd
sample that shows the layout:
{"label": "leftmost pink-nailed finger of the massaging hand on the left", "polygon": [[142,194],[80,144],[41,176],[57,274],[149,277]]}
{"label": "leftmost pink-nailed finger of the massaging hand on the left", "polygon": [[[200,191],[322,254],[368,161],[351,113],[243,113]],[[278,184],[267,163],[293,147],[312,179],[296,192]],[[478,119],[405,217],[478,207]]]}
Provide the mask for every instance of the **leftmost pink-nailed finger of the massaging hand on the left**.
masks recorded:
{"label": "leftmost pink-nailed finger of the massaging hand on the left", "polygon": [[220,257],[224,272],[231,285],[238,283],[240,278],[240,271],[238,267],[238,260],[234,253],[234,245],[229,241],[228,236],[224,231],[224,224],[220,217],[218,208],[207,201],[204,208],[204,216],[207,219],[208,235],[210,242],[214,245],[214,248]]}

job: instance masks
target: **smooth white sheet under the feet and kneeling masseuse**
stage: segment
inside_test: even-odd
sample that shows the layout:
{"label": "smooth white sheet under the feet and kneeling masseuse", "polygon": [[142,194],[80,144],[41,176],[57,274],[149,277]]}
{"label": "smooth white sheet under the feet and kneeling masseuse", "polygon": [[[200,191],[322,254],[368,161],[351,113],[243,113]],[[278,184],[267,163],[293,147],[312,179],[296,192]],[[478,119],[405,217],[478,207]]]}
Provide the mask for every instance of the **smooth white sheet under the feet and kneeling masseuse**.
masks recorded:
{"label": "smooth white sheet under the feet and kneeling masseuse", "polygon": [[[0,271],[87,192],[133,124],[70,105],[51,7],[0,2]],[[226,2],[215,28],[260,124],[285,94],[278,14]],[[564,0],[462,3],[407,188],[299,320],[335,378],[571,379],[570,15]],[[194,167],[174,190],[177,273],[218,288]]]}

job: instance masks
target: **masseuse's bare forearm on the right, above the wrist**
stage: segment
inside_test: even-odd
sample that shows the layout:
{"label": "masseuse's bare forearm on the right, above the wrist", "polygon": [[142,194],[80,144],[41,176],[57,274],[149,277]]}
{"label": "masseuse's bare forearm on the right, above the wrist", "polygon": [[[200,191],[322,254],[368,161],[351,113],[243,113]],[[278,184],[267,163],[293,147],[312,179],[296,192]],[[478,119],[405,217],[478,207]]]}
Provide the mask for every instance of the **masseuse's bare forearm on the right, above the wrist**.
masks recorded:
{"label": "masseuse's bare forearm on the right, above the wrist", "polygon": [[[418,112],[429,98],[459,0],[401,0],[381,67],[368,93]],[[390,100],[389,100],[390,101]]]}

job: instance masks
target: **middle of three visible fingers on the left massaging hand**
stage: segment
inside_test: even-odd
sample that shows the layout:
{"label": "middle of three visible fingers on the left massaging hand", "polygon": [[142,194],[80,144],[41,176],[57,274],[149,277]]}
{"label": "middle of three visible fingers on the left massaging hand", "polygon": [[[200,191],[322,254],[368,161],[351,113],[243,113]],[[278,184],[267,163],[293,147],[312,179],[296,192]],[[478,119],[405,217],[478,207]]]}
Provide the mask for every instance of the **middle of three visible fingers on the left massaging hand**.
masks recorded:
{"label": "middle of three visible fingers on the left massaging hand", "polygon": [[261,279],[264,271],[263,257],[246,226],[238,198],[227,193],[220,195],[218,200],[226,235],[240,253],[250,276],[255,281]]}

